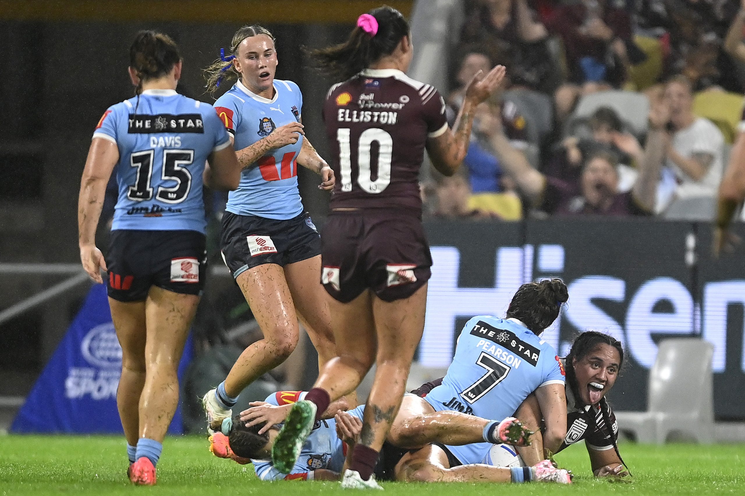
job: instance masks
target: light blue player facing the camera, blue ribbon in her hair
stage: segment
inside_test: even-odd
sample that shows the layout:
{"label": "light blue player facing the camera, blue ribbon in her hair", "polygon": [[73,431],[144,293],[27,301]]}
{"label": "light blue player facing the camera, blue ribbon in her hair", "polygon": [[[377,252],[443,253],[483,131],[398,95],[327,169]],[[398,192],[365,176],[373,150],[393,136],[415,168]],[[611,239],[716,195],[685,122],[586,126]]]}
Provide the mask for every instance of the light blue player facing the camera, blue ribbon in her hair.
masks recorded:
{"label": "light blue player facing the camera, blue ribbon in her hair", "polygon": [[334,187],[334,175],[304,136],[297,84],[274,79],[277,64],[272,34],[244,26],[229,57],[223,53],[207,71],[212,91],[238,77],[215,102],[242,169],[223,216],[221,251],[264,333],[203,397],[208,426],[231,416],[241,390],[290,355],[298,319],[321,364],[336,355],[320,286],[320,236],[300,202],[297,168],[319,173],[323,190]]}

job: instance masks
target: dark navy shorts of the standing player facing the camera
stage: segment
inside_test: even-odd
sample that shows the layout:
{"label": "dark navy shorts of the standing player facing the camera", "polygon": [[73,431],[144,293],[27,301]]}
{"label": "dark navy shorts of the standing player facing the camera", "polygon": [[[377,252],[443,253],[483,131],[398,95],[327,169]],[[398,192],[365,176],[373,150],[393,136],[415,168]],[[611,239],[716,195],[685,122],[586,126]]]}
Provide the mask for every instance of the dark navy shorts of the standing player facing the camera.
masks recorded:
{"label": "dark navy shorts of the standing player facing the camera", "polygon": [[225,265],[233,277],[265,263],[288,265],[321,253],[321,240],[310,214],[277,220],[226,212],[220,236]]}

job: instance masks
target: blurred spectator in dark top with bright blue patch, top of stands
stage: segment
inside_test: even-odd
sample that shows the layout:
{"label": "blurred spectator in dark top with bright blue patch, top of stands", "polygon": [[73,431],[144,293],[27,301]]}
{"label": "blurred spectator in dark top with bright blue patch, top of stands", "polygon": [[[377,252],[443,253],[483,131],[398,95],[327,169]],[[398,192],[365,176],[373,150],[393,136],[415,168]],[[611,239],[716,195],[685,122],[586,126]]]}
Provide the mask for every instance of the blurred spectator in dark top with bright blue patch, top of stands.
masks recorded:
{"label": "blurred spectator in dark top with bright blue patch, top of stands", "polygon": [[608,0],[562,5],[548,29],[564,43],[570,82],[574,83],[557,90],[559,121],[569,115],[580,95],[621,87],[627,80],[629,54],[638,57],[640,53],[631,39],[628,14]]}

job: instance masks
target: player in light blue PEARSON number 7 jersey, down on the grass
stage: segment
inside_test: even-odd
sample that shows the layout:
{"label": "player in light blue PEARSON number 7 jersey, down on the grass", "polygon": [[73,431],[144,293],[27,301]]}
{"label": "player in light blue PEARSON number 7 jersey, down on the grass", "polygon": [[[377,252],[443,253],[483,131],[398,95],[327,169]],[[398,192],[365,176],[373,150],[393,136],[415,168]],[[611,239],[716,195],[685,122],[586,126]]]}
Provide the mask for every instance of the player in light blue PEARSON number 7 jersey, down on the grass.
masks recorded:
{"label": "player in light blue PEARSON number 7 jersey, down on the grass", "polygon": [[[480,463],[495,438],[496,421],[514,415],[533,391],[544,413],[548,436],[563,439],[564,372],[555,350],[539,334],[554,322],[567,298],[561,280],[527,283],[513,296],[507,319],[481,315],[466,323],[442,384],[424,398],[405,396],[393,421],[388,438],[393,444],[416,448],[424,441],[432,443],[406,456],[410,466],[424,463],[428,470],[442,472],[443,477],[454,480],[448,478],[453,474],[447,470]],[[447,425],[437,429],[435,413],[448,410],[475,419],[491,419],[484,424],[484,442],[463,444]],[[422,418],[424,421],[416,422]],[[419,428],[413,431],[411,425]]]}

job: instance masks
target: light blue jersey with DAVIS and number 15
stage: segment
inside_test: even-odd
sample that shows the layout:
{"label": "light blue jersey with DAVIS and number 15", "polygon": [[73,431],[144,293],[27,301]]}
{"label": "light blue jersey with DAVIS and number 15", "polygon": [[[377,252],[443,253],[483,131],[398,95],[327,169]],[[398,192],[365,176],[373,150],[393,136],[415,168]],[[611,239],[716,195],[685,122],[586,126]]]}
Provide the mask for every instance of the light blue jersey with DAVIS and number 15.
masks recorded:
{"label": "light blue jersey with DAVIS and number 15", "polygon": [[139,99],[110,106],[93,138],[119,149],[112,230],[205,232],[204,164],[230,144],[209,103],[174,90],[146,89]]}

